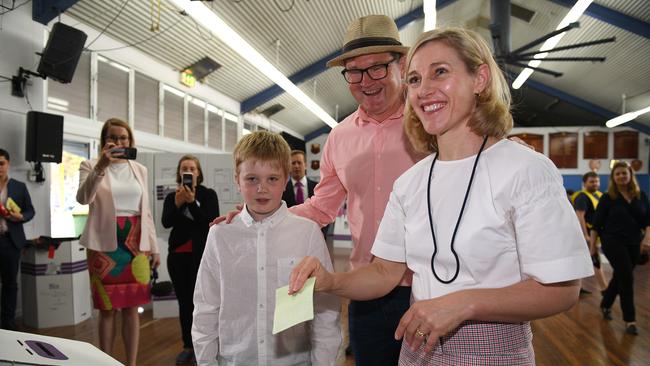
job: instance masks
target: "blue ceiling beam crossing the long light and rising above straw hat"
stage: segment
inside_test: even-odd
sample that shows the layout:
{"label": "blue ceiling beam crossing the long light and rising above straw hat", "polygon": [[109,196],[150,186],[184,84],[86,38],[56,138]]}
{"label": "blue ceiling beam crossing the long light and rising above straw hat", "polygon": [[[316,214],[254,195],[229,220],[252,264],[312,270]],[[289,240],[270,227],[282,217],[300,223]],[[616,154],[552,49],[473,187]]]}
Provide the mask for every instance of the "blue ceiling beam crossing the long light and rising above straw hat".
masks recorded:
{"label": "blue ceiling beam crossing the long light and rising above straw hat", "polygon": [[[436,2],[436,8],[437,10],[440,10],[448,5],[453,4],[455,1],[456,0],[438,0]],[[422,7],[417,7],[416,9],[410,11],[409,13],[395,19],[395,24],[397,24],[397,28],[402,29],[407,25],[411,24],[412,22],[422,18],[424,18],[424,11],[422,10]],[[292,83],[298,85],[299,83],[302,83],[304,81],[307,81],[317,76],[318,74],[328,69],[327,66],[325,65],[327,61],[333,59],[334,57],[339,56],[340,54],[341,54],[341,50],[336,50],[335,52],[330,53],[329,55],[321,58],[320,60],[312,63],[311,65],[305,67],[304,69],[289,76],[289,80],[291,80]],[[261,92],[242,101],[241,113],[243,114],[243,113],[250,112],[253,109],[261,106],[262,104],[268,102],[269,100],[277,97],[282,93],[284,93],[284,90],[282,90],[282,88],[274,84],[273,86],[270,86],[262,90]]]}

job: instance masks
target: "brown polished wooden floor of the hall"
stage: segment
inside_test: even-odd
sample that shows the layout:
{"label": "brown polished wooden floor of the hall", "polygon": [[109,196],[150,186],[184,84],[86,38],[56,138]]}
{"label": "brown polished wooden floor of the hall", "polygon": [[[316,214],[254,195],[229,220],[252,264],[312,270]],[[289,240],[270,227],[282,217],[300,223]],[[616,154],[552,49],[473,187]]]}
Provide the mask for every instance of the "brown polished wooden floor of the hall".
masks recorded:
{"label": "brown polished wooden floor of the hall", "polygon": [[[349,250],[335,250],[333,259],[337,271],[346,269],[348,254]],[[607,274],[609,277],[609,273]],[[595,291],[595,282],[588,279],[583,287],[594,290],[593,294],[583,295],[580,302],[566,313],[533,322],[533,344],[537,364],[541,366],[648,365],[650,363],[649,275],[650,265],[637,267],[634,274],[637,326],[640,333],[638,336],[624,333],[618,300],[613,308],[614,320],[603,320],[598,307],[601,296]],[[347,319],[346,309],[341,319]],[[342,321],[342,327],[346,334],[345,345],[347,344],[347,321]],[[96,317],[76,326],[21,330],[98,345]],[[114,357],[124,362],[124,348],[121,342],[121,336],[118,335]],[[177,318],[154,320],[151,311],[142,314],[138,365],[174,365],[181,347]],[[337,366],[353,365],[354,361],[344,356],[342,347]]]}

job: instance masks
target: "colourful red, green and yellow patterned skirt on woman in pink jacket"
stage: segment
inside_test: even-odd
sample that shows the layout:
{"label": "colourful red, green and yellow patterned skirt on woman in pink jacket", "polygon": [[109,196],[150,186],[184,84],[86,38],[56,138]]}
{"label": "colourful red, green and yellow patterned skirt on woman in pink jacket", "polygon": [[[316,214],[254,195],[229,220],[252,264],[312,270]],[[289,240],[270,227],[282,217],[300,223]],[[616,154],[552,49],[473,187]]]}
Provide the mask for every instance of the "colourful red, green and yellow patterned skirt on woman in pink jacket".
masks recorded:
{"label": "colourful red, green and yellow patterned skirt on woman in pink jacket", "polygon": [[117,249],[88,250],[95,309],[130,308],[151,301],[148,253],[140,252],[140,217],[118,216]]}

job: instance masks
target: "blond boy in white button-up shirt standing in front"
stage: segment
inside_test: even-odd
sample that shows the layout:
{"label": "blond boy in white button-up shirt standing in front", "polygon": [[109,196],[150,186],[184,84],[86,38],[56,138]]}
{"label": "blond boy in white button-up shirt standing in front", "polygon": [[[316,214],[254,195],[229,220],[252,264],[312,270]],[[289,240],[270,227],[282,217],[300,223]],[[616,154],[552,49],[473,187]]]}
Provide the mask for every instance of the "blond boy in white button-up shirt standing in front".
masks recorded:
{"label": "blond boy in white button-up shirt standing in front", "polygon": [[275,290],[315,256],[332,271],[316,223],[287,210],[291,150],[275,133],[244,136],[233,152],[245,207],[208,234],[194,290],[192,340],[199,365],[334,365],[341,344],[340,302],[314,296],[314,320],[272,335]]}

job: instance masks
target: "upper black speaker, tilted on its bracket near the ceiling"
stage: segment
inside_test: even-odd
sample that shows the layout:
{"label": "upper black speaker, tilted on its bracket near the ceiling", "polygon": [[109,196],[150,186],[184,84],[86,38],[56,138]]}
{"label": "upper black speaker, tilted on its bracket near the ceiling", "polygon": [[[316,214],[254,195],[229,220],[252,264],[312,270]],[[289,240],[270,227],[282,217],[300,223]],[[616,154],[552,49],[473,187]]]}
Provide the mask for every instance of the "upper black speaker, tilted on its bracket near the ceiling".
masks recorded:
{"label": "upper black speaker, tilted on its bracket near the ceiling", "polygon": [[38,73],[64,84],[71,82],[87,37],[79,29],[55,23],[41,55]]}

